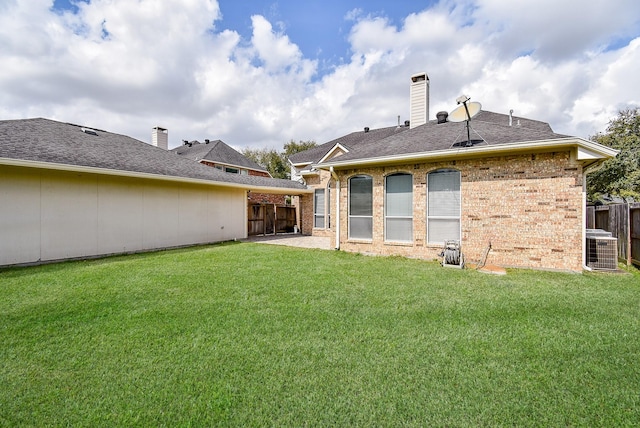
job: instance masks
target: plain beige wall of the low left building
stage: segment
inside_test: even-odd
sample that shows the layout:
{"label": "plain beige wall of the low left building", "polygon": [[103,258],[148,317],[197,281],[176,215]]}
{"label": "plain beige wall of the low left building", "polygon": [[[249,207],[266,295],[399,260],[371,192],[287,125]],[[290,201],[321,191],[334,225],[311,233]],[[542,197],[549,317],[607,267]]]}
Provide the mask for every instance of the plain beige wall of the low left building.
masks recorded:
{"label": "plain beige wall of the low left building", "polygon": [[0,167],[0,265],[246,237],[243,190]]}

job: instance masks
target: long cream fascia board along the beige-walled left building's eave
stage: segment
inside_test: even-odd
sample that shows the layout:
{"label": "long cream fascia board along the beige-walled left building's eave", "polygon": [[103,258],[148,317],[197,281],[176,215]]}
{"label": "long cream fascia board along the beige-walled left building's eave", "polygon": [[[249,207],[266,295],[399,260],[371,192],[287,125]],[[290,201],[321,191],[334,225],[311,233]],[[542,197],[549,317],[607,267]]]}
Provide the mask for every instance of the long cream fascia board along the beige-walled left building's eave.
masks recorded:
{"label": "long cream fascia board along the beige-walled left building's eave", "polygon": [[118,169],[96,168],[92,166],[69,165],[60,163],[31,161],[24,159],[0,158],[0,165],[17,166],[22,168],[35,168],[54,171],[67,171],[85,174],[110,175],[114,177],[139,178],[147,180],[168,181],[173,183],[202,184],[212,187],[224,187],[230,189],[251,190],[260,193],[273,193],[281,195],[298,195],[313,193],[312,189],[289,189],[283,187],[253,186],[241,183],[227,183],[224,181],[204,180],[201,178],[176,177],[170,175],[151,174],[147,172],[123,171]]}

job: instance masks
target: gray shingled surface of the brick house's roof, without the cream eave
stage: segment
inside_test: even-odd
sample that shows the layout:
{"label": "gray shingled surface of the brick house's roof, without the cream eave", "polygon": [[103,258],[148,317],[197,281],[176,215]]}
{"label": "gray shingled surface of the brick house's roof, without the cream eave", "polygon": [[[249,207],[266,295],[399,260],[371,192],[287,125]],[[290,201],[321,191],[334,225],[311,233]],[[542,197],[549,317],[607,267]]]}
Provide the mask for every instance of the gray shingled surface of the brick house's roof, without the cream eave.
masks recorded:
{"label": "gray shingled surface of the brick house's roof, without the cream eave", "polygon": [[[481,111],[471,121],[471,140],[477,145],[499,145],[518,142],[545,141],[570,138],[556,134],[548,123],[513,117],[509,126],[509,115]],[[344,144],[343,144],[344,142]],[[408,127],[383,128],[367,133],[356,132],[345,135],[321,146],[297,153],[290,158],[293,164],[317,164],[337,143],[346,145],[349,152],[336,158],[338,162],[373,159],[403,154],[437,152],[455,147],[464,147],[467,142],[465,122],[437,123],[431,120],[413,129]],[[327,163],[331,163],[328,160]]]}

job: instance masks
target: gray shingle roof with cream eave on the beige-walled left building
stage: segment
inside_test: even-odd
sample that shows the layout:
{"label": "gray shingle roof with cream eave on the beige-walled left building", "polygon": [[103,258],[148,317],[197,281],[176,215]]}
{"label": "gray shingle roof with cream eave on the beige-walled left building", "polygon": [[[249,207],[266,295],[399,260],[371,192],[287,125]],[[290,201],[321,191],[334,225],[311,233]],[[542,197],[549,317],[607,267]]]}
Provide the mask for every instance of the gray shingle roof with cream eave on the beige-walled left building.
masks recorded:
{"label": "gray shingle roof with cream eave on the beige-walled left building", "polygon": [[0,121],[0,164],[199,182],[268,193],[300,194],[300,183],[228,174],[142,141],[49,119]]}

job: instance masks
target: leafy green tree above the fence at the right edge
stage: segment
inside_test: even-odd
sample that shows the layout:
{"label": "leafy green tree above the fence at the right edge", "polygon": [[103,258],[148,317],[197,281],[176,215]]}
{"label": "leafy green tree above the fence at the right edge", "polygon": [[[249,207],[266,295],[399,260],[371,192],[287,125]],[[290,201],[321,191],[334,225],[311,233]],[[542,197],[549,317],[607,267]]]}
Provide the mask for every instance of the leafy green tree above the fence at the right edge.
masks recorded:
{"label": "leafy green tree above the fence at the right edge", "polygon": [[611,195],[640,201],[640,108],[621,110],[605,133],[591,139],[620,153],[587,176],[589,200],[596,202]]}

